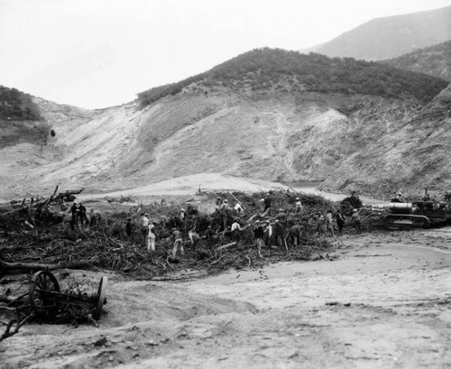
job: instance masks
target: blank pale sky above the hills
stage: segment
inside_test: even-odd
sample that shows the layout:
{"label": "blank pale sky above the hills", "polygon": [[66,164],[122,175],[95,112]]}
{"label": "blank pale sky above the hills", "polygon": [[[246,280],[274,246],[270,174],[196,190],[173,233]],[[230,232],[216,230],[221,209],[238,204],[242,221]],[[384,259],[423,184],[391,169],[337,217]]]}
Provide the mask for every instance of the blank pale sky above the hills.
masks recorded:
{"label": "blank pale sky above the hills", "polygon": [[451,0],[0,0],[0,85],[102,108],[264,46],[301,50]]}

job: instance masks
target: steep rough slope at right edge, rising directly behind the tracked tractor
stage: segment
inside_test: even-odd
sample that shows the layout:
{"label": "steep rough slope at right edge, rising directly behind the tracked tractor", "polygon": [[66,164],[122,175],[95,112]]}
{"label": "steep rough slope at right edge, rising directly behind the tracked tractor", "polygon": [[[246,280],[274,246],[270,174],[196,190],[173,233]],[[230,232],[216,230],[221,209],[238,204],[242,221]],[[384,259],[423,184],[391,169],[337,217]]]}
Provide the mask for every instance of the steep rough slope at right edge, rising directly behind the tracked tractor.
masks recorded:
{"label": "steep rough slope at right edge, rising directly behind the tracked tractor", "polygon": [[323,189],[359,189],[382,196],[398,189],[451,189],[451,86],[390,134],[336,166]]}

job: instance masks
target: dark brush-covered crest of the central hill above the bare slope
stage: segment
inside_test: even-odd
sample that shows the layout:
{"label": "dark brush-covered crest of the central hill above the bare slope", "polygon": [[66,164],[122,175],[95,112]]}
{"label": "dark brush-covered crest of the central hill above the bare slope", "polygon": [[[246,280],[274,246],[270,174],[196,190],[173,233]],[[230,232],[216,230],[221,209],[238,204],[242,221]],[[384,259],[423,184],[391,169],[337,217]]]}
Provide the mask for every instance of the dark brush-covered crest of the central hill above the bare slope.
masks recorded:
{"label": "dark brush-covered crest of the central hill above the bare slope", "polygon": [[430,101],[446,82],[389,66],[281,49],[256,49],[219,64],[179,83],[151,88],[138,94],[142,106],[161,97],[176,95],[199,84],[205,94],[214,88],[237,92],[321,92],[366,94],[383,97],[412,96]]}

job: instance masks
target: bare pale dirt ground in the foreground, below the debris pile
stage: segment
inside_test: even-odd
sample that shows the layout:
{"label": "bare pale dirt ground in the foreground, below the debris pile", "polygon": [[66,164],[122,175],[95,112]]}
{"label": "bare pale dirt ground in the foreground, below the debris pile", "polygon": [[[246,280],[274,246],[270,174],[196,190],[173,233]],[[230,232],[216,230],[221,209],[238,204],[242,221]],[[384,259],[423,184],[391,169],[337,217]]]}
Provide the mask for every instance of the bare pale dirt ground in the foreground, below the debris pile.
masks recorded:
{"label": "bare pale dirt ground in the foreground, below the debris pile", "polygon": [[25,325],[0,366],[451,367],[451,227],[343,235],[328,256],[207,279],[60,271],[108,276],[100,327]]}

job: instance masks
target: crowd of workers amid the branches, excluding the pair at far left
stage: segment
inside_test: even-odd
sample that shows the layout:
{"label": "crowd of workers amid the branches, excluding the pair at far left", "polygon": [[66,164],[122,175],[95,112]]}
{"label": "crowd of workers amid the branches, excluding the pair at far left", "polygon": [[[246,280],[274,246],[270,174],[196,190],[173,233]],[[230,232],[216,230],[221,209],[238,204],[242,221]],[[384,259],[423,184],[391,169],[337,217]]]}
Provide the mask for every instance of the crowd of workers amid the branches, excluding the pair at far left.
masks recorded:
{"label": "crowd of workers amid the branches, excluding the pair at far left", "polygon": [[[219,218],[219,224],[216,229],[211,225],[207,226],[205,234],[198,235],[195,230],[189,230],[187,243],[191,245],[192,249],[197,249],[200,240],[206,240],[207,247],[213,248],[219,243],[220,239],[227,235],[237,245],[240,245],[244,230],[252,227],[252,235],[257,248],[258,254],[262,255],[263,247],[277,248],[296,247],[302,242],[308,242],[313,236],[321,235],[336,235],[335,223],[338,228],[338,233],[342,234],[345,225],[345,216],[340,210],[335,214],[332,210],[327,210],[324,213],[318,212],[311,217],[303,217],[303,205],[300,198],[295,198],[294,212],[288,214],[284,209],[279,209],[277,215],[273,214],[272,207],[272,193],[267,193],[262,202],[262,213],[259,214],[260,220],[245,220],[243,205],[236,200],[236,204],[232,206],[225,198],[216,198],[216,216]],[[171,255],[176,258],[178,254],[184,254],[183,234],[186,232],[185,221],[187,220],[187,212],[180,208],[177,226],[172,227],[170,237],[166,238],[167,242],[172,244]],[[216,218],[217,218],[216,217]],[[231,226],[230,218],[233,221]],[[266,217],[271,217],[265,219]],[[359,211],[354,209],[351,217],[355,231],[361,232],[361,218]],[[245,225],[245,226],[244,226]],[[140,218],[140,235],[143,246],[147,247],[147,251],[152,253],[155,251],[155,241],[157,238],[156,227],[147,213],[142,213]],[[129,239],[133,234],[133,221],[128,218],[125,224],[126,235]]]}

